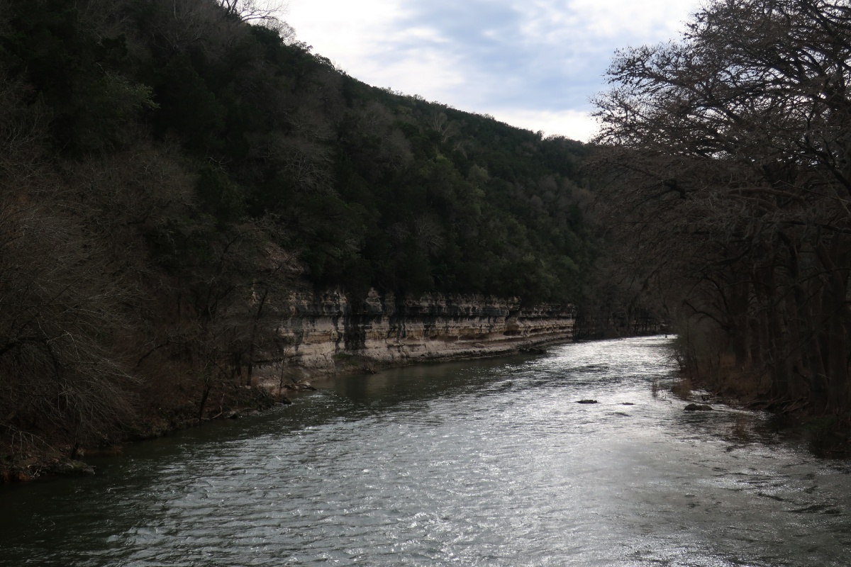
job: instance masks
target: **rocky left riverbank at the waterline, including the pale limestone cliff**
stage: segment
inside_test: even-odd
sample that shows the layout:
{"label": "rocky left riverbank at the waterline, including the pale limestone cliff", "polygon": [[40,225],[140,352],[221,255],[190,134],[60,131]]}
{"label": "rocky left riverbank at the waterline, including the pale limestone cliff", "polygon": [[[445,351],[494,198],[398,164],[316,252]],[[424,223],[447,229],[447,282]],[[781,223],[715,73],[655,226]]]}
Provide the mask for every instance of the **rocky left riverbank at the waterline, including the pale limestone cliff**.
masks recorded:
{"label": "rocky left riverbank at the waterline, including the pale limestone cliff", "polygon": [[[534,352],[573,340],[572,306],[524,307],[517,298],[425,294],[417,298],[369,292],[353,303],[340,292],[291,292],[275,305],[279,349],[266,353],[254,385],[216,383],[203,411],[197,391],[174,388],[168,407],[140,408],[123,439],[151,439],[214,419],[263,411],[311,389],[306,380],[375,372],[425,361]],[[240,380],[242,378],[240,377]],[[65,447],[20,432],[0,447],[0,484],[57,474],[94,473],[81,459],[120,452],[109,447]]]}

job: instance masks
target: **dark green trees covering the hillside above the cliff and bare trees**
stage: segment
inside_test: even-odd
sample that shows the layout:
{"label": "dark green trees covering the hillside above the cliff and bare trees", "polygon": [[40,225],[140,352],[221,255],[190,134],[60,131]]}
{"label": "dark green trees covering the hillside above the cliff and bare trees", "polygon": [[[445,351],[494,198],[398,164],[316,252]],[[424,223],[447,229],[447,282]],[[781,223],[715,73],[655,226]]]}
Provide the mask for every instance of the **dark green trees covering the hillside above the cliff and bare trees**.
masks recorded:
{"label": "dark green trees covering the hillside above the cliff and bare trees", "polygon": [[370,88],[210,0],[16,7],[3,68],[53,115],[56,150],[174,140],[205,212],[275,215],[317,285],[577,291],[580,144]]}

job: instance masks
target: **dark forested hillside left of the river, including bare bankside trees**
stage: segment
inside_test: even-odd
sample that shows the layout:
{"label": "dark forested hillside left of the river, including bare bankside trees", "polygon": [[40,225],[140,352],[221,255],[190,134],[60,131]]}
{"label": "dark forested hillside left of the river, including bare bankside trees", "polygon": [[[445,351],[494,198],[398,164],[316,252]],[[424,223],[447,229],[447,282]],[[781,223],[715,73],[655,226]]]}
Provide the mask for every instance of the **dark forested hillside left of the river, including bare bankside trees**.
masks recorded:
{"label": "dark forested hillside left of the river, including bare bankside trees", "polygon": [[580,293],[585,146],[369,87],[245,17],[3,3],[5,439],[74,452],[203,417],[273,348],[268,305],[293,286]]}

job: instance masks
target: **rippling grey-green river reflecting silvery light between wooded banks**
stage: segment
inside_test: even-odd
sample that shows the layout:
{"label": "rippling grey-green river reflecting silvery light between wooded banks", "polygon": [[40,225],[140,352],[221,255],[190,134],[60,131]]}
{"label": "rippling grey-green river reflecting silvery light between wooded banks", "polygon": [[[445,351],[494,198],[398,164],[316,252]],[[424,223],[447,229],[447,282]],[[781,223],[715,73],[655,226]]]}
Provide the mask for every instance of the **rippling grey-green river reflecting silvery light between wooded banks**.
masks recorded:
{"label": "rippling grey-green river reflecting silvery light between wooded banks", "polygon": [[320,383],[3,488],[0,565],[851,564],[851,465],[673,376],[646,337]]}

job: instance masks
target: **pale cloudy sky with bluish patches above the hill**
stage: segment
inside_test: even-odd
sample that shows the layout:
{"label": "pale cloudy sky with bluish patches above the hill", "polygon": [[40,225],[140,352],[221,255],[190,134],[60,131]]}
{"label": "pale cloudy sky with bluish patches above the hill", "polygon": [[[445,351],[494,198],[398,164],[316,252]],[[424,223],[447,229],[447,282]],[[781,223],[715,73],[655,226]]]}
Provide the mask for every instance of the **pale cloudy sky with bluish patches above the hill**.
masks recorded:
{"label": "pale cloudy sky with bluish patches above the hill", "polygon": [[698,0],[288,0],[284,19],[352,77],[588,139],[614,50],[677,37]]}

